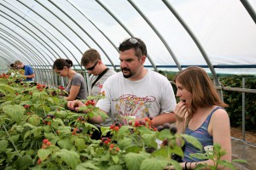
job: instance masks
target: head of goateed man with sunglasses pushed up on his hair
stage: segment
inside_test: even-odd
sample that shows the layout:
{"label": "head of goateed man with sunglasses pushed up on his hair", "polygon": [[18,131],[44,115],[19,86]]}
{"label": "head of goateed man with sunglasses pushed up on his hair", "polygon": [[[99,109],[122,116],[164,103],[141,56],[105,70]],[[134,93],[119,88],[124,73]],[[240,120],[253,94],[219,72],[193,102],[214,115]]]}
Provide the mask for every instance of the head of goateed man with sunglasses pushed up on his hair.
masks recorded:
{"label": "head of goateed man with sunglasses pushed up on his hair", "polygon": [[147,57],[145,43],[137,38],[125,39],[119,45],[120,68],[125,78],[130,78],[143,71],[143,64]]}

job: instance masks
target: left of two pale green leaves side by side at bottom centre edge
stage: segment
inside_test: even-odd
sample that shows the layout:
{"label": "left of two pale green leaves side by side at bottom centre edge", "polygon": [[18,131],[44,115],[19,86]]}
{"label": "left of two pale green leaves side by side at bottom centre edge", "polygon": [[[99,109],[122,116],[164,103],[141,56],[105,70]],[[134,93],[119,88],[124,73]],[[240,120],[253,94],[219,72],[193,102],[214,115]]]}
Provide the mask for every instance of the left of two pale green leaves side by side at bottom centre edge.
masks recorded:
{"label": "left of two pale green leaves side by side at bottom centre edge", "polygon": [[[147,158],[144,154],[128,153],[125,156],[125,164],[129,170],[139,170],[140,165]],[[163,168],[161,169],[163,170]]]}

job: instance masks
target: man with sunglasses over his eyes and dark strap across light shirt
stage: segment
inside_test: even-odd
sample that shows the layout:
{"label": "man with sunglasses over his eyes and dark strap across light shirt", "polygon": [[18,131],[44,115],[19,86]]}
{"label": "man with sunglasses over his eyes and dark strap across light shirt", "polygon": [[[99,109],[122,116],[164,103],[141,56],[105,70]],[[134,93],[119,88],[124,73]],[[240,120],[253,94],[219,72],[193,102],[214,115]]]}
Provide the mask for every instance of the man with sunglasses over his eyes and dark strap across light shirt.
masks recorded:
{"label": "man with sunglasses over his eyes and dark strap across light shirt", "polygon": [[89,95],[97,96],[101,93],[103,83],[116,72],[113,69],[109,69],[103,64],[101,55],[99,52],[90,48],[86,50],[81,59],[81,65],[88,73],[90,73],[89,79]]}

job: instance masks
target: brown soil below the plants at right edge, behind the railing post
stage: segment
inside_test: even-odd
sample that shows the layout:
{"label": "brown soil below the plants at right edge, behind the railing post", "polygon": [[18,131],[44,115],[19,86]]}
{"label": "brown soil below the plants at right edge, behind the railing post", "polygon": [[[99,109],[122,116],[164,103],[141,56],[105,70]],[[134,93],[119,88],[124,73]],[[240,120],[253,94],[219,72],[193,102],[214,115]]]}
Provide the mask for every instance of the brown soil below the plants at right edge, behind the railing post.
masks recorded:
{"label": "brown soil below the plants at right edge, behind the railing post", "polygon": [[[242,139],[242,133],[240,127],[231,127],[231,137],[236,139]],[[249,143],[256,144],[256,133],[245,132],[245,140]]]}

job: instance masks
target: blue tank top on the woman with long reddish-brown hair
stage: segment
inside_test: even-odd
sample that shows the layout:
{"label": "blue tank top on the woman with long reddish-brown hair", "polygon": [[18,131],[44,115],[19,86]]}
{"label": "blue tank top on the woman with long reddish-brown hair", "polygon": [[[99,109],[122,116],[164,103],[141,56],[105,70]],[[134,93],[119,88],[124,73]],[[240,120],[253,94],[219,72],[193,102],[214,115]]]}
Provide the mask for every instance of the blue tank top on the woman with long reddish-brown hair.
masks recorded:
{"label": "blue tank top on the woman with long reddish-brown hair", "polygon": [[[209,116],[207,116],[207,119],[205,120],[205,122],[202,123],[201,127],[196,129],[195,131],[191,130],[188,126],[186,127],[185,134],[188,134],[198,139],[199,142],[201,142],[203,148],[207,145],[213,145],[212,134],[208,133],[207,128],[211,120],[212,114],[214,113],[214,111],[218,109],[223,109],[223,108],[220,106],[217,106],[216,108],[214,108],[212,112],[209,114]],[[191,157],[191,158],[189,157],[190,154],[195,154],[195,153],[205,153],[205,150],[202,150],[202,151],[198,150],[197,148],[195,148],[195,146],[193,146],[193,144],[190,144],[189,142],[185,141],[183,161],[189,161],[189,162],[203,161],[195,157]]]}

